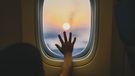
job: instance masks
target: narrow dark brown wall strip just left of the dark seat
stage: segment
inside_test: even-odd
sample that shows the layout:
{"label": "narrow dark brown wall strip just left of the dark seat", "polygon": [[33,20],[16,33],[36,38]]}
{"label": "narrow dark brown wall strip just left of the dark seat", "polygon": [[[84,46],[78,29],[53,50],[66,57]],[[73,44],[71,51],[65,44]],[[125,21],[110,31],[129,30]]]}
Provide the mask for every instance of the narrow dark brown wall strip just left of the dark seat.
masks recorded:
{"label": "narrow dark brown wall strip just left of the dark seat", "polygon": [[112,52],[111,52],[111,76],[123,76],[124,60],[123,50],[124,45],[120,40],[115,18],[113,17],[112,26]]}

